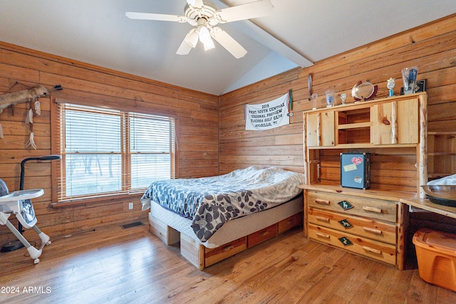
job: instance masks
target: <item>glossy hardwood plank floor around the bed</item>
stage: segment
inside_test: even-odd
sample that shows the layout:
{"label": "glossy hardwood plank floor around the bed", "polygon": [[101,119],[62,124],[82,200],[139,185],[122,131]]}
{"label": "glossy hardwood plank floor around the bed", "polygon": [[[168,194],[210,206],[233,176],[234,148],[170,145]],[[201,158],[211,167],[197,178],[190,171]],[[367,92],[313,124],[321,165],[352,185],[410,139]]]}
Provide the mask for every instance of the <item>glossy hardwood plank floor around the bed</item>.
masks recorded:
{"label": "glossy hardwood plank floor around the bed", "polygon": [[398,271],[299,229],[198,271],[147,228],[56,238],[36,265],[24,248],[0,253],[0,303],[456,303],[418,269]]}

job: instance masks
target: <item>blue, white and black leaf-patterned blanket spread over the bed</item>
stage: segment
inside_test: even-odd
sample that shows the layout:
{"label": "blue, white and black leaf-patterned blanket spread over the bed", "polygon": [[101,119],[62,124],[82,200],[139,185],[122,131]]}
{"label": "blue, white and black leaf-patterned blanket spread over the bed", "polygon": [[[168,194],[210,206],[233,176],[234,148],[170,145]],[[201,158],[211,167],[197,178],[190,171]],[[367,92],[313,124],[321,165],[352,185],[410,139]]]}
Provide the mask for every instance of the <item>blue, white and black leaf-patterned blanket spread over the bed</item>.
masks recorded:
{"label": "blue, white and black leaf-patterned blanket spread over the bed", "polygon": [[152,182],[141,198],[142,210],[155,201],[192,219],[198,239],[207,241],[224,223],[282,204],[301,192],[303,174],[277,167],[248,167],[217,177]]}

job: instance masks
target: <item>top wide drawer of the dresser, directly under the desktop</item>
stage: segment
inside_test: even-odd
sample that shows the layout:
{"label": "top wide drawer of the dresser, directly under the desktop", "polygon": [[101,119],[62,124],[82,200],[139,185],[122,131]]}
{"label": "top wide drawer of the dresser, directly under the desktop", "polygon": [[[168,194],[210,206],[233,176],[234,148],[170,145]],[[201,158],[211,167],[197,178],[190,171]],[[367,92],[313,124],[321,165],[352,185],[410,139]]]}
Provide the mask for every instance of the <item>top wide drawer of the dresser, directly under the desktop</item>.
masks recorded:
{"label": "top wide drawer of the dresser, directly under the desktop", "polygon": [[[351,207],[346,203],[351,205]],[[365,216],[372,219],[381,219],[394,223],[396,222],[398,209],[395,201],[315,191],[308,192],[307,204],[309,207]],[[344,209],[342,205],[348,206],[349,209]]]}

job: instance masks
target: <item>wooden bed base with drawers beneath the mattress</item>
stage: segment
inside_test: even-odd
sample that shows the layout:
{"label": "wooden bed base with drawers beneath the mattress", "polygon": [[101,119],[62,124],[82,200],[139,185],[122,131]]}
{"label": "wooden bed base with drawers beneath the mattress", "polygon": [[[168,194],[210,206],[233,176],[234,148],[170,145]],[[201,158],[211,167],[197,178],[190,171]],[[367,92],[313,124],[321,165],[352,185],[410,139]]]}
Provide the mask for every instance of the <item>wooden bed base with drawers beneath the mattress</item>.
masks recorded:
{"label": "wooden bed base with drawers beneath the mattress", "polygon": [[225,243],[217,248],[206,248],[201,243],[185,234],[181,234],[180,231],[167,226],[163,221],[150,214],[149,224],[152,234],[155,234],[155,236],[160,238],[168,246],[180,242],[181,255],[199,270],[203,270],[214,263],[282,234],[295,226],[302,225],[302,214],[302,212],[296,213],[253,234],[243,236],[240,239]]}

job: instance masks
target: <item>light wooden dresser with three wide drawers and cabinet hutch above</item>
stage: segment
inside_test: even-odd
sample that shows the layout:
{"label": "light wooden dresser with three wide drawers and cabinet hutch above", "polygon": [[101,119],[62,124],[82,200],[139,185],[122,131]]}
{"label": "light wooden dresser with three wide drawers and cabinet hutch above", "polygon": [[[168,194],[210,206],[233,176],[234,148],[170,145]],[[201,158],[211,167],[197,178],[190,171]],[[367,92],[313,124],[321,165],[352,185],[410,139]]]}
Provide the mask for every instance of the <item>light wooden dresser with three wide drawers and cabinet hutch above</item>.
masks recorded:
{"label": "light wooden dresser with three wide drawers and cabinet hutch above", "polygon": [[[398,269],[408,205],[427,182],[427,95],[304,112],[304,233]],[[341,153],[371,155],[371,187],[341,187]]]}

